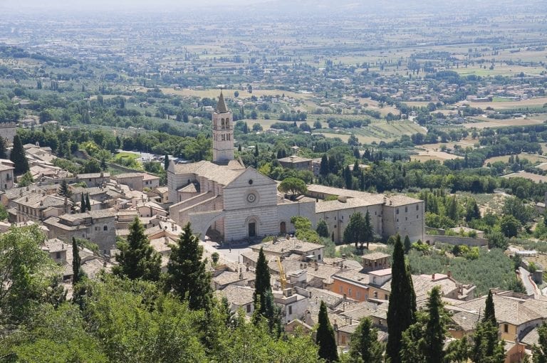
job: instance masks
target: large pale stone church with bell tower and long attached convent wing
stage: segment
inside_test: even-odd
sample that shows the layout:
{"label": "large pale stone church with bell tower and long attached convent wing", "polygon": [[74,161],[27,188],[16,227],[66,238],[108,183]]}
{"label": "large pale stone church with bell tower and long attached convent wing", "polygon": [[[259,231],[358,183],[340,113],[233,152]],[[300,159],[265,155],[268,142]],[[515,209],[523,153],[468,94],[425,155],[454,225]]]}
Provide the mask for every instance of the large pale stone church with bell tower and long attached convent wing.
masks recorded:
{"label": "large pale stone church with bell tower and long attached convent wing", "polygon": [[[173,202],[170,218],[179,225],[191,222],[202,238],[241,241],[291,233],[291,217],[305,216],[313,226],[320,219],[327,221],[333,241],[340,242],[350,215],[369,211],[380,236],[398,232],[413,241],[424,240],[424,204],[418,199],[325,186],[310,186],[308,196],[298,201],[285,199],[275,180],[234,159],[234,120],[222,91],[212,115],[212,129],[212,162],[171,162],[167,169],[169,200]],[[316,201],[332,195],[338,200]]]}

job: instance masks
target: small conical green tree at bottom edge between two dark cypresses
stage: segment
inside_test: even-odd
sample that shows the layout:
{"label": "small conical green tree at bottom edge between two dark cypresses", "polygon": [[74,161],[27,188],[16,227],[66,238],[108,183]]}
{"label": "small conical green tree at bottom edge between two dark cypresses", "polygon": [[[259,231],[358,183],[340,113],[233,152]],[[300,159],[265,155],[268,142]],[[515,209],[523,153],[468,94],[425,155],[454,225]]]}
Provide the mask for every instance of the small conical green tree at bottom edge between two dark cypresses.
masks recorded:
{"label": "small conical green tree at bottom edge between two dark cypresses", "polygon": [[382,363],[384,347],[370,318],[361,319],[350,340],[350,362]]}

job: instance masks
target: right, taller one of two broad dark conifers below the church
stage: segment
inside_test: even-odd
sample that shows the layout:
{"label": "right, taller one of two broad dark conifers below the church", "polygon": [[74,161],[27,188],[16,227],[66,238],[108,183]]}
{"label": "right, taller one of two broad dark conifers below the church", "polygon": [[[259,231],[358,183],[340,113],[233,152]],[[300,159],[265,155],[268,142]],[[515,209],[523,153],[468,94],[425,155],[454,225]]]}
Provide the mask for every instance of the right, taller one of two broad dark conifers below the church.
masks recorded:
{"label": "right, taller one of two broad dark conifers below the church", "polygon": [[211,275],[207,272],[207,260],[202,258],[203,247],[187,223],[177,245],[171,247],[165,290],[187,300],[192,310],[207,307],[212,298]]}

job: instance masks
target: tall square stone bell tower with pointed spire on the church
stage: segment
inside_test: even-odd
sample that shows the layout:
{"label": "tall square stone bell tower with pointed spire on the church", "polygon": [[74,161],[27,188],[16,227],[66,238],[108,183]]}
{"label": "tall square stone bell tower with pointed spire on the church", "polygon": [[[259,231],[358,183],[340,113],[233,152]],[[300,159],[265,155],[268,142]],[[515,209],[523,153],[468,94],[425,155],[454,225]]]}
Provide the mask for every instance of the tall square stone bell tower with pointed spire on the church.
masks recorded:
{"label": "tall square stone bell tower with pointed spire on the church", "polygon": [[213,112],[213,162],[226,163],[234,159],[234,120],[226,107],[222,90]]}

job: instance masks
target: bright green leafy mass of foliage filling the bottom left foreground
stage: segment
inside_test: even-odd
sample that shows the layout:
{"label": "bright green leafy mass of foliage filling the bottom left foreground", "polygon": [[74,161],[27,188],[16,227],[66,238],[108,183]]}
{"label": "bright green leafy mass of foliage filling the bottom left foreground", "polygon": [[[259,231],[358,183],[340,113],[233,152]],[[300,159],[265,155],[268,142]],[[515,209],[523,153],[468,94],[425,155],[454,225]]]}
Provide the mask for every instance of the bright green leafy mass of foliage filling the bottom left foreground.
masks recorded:
{"label": "bright green leafy mass of foliage filling the bottom left foreground", "polygon": [[105,275],[85,281],[78,305],[43,304],[0,340],[0,356],[25,362],[317,362],[308,335],[277,339],[266,324],[209,312],[165,295],[154,283]]}

